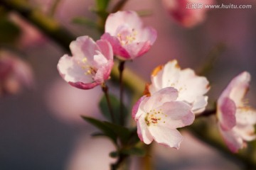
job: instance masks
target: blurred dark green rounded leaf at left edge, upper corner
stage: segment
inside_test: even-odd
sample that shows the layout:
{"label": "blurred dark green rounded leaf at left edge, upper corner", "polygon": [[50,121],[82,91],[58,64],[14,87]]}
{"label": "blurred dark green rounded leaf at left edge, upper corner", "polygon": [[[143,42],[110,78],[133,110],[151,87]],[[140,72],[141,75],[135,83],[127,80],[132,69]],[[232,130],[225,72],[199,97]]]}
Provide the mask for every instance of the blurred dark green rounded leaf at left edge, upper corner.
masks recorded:
{"label": "blurred dark green rounded leaf at left edge, upper corner", "polygon": [[21,34],[20,28],[8,18],[0,18],[0,43],[12,43]]}

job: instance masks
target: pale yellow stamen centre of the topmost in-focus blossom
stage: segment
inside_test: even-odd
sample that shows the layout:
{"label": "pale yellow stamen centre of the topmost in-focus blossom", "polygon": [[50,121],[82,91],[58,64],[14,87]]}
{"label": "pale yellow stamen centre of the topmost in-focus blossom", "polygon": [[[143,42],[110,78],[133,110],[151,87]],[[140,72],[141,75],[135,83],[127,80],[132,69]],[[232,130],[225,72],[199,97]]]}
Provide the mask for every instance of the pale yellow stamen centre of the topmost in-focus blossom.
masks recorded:
{"label": "pale yellow stamen centre of the topmost in-focus blossom", "polygon": [[132,33],[130,31],[121,31],[117,34],[117,38],[119,40],[119,42],[121,42],[121,45],[127,45],[127,44],[131,44],[132,42],[134,42],[134,40],[136,40],[136,36],[137,36],[137,30],[134,30],[134,28],[132,29]]}

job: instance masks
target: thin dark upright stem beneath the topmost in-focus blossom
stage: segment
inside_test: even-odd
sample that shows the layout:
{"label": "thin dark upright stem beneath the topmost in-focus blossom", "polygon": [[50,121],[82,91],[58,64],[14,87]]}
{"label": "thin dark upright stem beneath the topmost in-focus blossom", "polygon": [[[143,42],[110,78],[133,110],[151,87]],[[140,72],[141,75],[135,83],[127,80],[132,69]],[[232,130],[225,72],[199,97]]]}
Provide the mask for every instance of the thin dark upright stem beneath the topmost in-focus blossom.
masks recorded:
{"label": "thin dark upright stem beneath the topmost in-focus blossom", "polygon": [[119,63],[119,84],[120,84],[120,124],[124,125],[124,107],[123,107],[123,98],[124,98],[124,84],[123,84],[123,72],[124,72],[125,61]]}

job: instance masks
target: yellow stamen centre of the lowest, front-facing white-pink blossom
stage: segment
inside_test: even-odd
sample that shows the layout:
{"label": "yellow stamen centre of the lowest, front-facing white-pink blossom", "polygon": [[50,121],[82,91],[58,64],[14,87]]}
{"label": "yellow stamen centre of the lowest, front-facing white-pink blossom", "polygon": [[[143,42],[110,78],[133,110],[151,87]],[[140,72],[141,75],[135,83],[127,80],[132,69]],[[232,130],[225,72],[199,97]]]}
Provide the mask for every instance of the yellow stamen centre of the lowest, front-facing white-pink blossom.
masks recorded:
{"label": "yellow stamen centre of the lowest, front-facing white-pink blossom", "polygon": [[168,115],[164,115],[164,113],[161,111],[151,110],[148,113],[146,113],[145,122],[146,125],[157,125],[159,122],[165,123],[165,121],[161,121],[162,117],[167,117]]}

